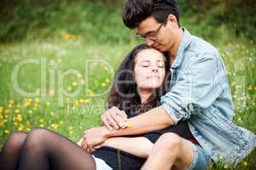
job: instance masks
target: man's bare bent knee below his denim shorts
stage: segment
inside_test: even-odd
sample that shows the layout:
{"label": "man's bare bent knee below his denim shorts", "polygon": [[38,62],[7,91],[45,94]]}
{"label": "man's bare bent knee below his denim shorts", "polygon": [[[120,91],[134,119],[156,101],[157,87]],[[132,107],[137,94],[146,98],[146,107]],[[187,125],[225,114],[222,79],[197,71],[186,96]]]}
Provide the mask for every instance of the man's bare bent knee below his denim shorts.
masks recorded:
{"label": "man's bare bent knee below his denim shorts", "polygon": [[148,160],[143,165],[146,169],[185,169],[194,158],[191,144],[175,133],[165,133],[154,144]]}

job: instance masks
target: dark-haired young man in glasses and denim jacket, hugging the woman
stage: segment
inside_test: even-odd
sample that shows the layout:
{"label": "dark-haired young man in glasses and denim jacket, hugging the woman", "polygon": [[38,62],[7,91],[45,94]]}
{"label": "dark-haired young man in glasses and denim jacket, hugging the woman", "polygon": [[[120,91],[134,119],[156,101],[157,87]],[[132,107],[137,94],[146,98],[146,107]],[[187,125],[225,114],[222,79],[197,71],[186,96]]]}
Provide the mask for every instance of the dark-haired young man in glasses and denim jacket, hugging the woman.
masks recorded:
{"label": "dark-haired young man in glasses and denim jacket, hugging the woman", "polygon": [[[232,123],[232,97],[218,50],[179,26],[175,0],[128,0],[123,20],[149,46],[169,54],[172,80],[159,107],[131,118],[131,127],[108,136],[146,133],[188,120],[198,143],[166,133],[154,144],[143,169],[199,170],[220,158],[236,166],[255,148],[256,137]],[[125,123],[123,117],[107,111],[102,122],[118,129]]]}

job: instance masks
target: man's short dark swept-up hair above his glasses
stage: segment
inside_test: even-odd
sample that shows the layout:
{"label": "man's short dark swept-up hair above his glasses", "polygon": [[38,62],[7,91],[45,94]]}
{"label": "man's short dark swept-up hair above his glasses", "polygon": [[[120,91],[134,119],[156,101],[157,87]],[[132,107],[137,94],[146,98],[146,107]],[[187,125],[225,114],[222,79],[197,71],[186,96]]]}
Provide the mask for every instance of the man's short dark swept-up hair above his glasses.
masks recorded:
{"label": "man's short dark swept-up hair above his glasses", "polygon": [[177,0],[127,0],[123,11],[123,21],[128,28],[136,28],[150,16],[158,22],[166,20],[169,14],[177,18]]}

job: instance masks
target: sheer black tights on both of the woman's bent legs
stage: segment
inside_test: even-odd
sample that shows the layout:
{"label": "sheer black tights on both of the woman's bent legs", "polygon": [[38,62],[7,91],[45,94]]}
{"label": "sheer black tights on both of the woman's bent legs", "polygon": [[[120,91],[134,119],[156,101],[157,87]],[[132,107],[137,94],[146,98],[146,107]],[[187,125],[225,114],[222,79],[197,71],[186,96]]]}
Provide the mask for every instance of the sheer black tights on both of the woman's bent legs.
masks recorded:
{"label": "sheer black tights on both of the woman's bent legs", "polygon": [[95,170],[90,153],[71,140],[44,128],[31,133],[13,133],[0,153],[5,170]]}

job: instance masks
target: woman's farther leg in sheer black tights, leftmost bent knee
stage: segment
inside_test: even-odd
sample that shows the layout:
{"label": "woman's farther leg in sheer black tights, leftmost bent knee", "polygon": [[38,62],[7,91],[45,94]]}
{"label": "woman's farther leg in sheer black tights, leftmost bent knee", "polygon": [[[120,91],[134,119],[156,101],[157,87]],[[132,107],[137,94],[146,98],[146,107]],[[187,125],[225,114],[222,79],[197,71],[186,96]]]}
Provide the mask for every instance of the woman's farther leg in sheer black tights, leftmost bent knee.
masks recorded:
{"label": "woman's farther leg in sheer black tights, leftmost bent knee", "polygon": [[0,153],[0,169],[15,170],[19,161],[20,149],[27,133],[18,132],[9,135]]}

